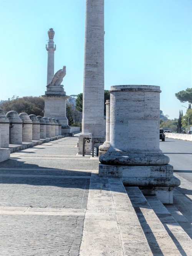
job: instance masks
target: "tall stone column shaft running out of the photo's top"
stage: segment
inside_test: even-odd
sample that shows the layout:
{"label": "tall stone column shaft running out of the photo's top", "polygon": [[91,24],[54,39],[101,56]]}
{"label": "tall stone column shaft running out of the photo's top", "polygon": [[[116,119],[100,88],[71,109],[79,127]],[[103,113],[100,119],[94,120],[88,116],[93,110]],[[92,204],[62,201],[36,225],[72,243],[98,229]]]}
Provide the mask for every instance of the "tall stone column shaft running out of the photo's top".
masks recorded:
{"label": "tall stone column shaft running out of the photo's top", "polygon": [[82,132],[104,141],[104,0],[86,0]]}

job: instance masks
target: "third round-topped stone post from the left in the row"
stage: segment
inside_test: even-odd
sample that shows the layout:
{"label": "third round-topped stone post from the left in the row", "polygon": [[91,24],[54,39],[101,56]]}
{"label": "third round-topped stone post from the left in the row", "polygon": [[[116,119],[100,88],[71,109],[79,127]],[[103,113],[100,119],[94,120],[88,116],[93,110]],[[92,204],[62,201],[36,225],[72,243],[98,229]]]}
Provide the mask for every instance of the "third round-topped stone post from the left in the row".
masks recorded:
{"label": "third round-topped stone post from the left in the row", "polygon": [[32,134],[33,134],[33,128],[32,128],[32,121],[27,113],[20,113],[19,117],[23,121],[23,141],[32,141]]}

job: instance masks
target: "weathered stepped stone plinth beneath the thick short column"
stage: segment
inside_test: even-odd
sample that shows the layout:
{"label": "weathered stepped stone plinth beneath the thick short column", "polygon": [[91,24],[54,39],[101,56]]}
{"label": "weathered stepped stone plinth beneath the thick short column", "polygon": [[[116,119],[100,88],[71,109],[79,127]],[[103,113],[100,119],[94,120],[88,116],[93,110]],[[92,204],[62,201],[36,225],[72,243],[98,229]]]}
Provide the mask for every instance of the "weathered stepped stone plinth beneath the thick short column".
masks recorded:
{"label": "weathered stepped stone plinth beneath the thick short column", "polygon": [[173,176],[172,165],[114,166],[99,163],[99,176],[120,177],[124,186],[138,186],[144,194],[156,194],[162,203],[172,204],[174,187],[180,180]]}

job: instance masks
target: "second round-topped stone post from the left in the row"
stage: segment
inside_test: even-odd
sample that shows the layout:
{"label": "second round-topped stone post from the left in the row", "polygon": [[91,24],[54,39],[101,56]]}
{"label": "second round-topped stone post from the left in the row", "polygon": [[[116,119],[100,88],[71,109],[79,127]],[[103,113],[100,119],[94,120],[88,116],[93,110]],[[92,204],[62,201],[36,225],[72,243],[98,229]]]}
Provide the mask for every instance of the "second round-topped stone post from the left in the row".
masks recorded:
{"label": "second round-topped stone post from the left in the row", "polygon": [[6,116],[11,125],[11,144],[22,144],[23,121],[16,111],[9,111]]}

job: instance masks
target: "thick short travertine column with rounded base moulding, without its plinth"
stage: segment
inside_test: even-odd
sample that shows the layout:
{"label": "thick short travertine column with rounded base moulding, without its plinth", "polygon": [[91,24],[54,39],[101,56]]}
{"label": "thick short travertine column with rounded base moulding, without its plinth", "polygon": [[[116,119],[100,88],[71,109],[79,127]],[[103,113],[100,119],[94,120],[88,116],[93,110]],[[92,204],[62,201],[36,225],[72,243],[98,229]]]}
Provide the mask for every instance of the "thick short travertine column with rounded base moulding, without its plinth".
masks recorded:
{"label": "thick short travertine column with rounded base moulding, without its plinth", "polygon": [[[110,148],[100,157],[110,165],[166,165],[159,149],[160,87],[111,86]],[[138,136],[138,131],[144,136]]]}

